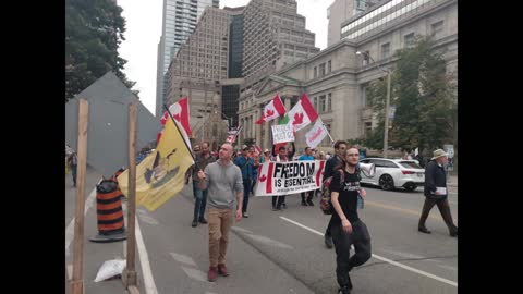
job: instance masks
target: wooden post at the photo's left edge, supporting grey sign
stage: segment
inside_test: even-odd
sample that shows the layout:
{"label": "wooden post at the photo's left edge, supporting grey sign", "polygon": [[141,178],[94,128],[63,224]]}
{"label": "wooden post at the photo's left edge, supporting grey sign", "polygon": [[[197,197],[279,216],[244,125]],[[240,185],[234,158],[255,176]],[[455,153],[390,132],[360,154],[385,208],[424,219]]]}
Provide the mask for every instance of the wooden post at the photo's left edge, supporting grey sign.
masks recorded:
{"label": "wooden post at the photo's left edge, supporting grey sign", "polygon": [[85,174],[87,169],[87,125],[89,118],[89,105],[87,100],[78,99],[78,105],[76,207],[74,216],[73,280],[71,281],[73,294],[84,293],[84,209]]}

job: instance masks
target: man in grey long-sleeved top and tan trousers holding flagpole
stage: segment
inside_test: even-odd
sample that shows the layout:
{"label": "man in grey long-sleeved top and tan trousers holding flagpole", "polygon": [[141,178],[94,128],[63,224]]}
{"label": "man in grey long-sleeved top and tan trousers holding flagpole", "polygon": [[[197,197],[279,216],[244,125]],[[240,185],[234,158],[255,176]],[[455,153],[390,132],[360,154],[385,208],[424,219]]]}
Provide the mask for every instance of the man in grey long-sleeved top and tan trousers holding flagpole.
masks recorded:
{"label": "man in grey long-sleeved top and tan trousers holding flagpole", "polygon": [[[227,277],[227,244],[232,225],[232,215],[236,205],[236,221],[242,219],[243,180],[240,168],[232,163],[232,145],[220,147],[219,160],[209,163],[205,172],[198,171],[199,188],[208,191],[207,221],[209,223],[209,271],[207,279],[212,282],[216,273]],[[235,195],[235,199],[234,199]]]}

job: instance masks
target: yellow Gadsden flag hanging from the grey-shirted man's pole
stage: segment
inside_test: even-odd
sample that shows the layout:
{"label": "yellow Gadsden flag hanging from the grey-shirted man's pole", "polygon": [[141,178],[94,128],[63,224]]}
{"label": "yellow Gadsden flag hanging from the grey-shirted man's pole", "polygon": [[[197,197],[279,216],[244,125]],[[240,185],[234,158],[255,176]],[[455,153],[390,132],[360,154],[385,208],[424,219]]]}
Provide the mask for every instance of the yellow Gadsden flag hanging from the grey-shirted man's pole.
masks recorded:
{"label": "yellow Gadsden flag hanging from the grey-shirted man's pole", "polygon": [[[183,137],[169,118],[158,148],[136,166],[136,205],[156,210],[184,186],[185,172],[194,164]],[[124,195],[129,193],[129,169],[118,176]]]}

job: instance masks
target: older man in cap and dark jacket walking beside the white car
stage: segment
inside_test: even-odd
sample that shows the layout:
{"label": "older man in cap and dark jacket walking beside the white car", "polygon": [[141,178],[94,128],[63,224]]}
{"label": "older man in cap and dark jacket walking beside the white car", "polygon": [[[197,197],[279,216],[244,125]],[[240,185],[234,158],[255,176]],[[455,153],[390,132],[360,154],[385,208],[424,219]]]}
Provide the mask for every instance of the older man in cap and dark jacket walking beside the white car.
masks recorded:
{"label": "older man in cap and dark jacket walking beside the white car", "polygon": [[447,154],[442,149],[437,149],[425,168],[425,204],[423,205],[417,231],[430,234],[430,231],[425,226],[425,221],[427,221],[430,209],[433,209],[434,205],[437,205],[447,228],[449,228],[450,236],[457,237],[458,226],[452,221],[448,200],[447,173],[443,167],[447,162]]}

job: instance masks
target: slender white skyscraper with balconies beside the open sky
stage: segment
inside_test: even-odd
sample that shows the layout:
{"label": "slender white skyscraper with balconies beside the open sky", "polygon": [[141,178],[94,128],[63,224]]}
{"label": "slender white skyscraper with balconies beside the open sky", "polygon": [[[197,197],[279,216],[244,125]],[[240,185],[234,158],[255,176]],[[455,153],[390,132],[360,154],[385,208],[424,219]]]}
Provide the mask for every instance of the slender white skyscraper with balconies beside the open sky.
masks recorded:
{"label": "slender white skyscraper with balconies beside the open sky", "polygon": [[[161,37],[158,44],[158,65],[156,85],[156,115],[160,117],[166,102],[167,77],[171,60],[180,47],[194,32],[205,8],[219,8],[219,0],[163,0]],[[161,72],[161,73],[160,73]]]}

